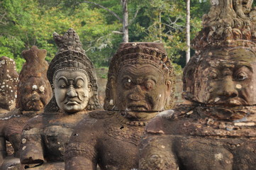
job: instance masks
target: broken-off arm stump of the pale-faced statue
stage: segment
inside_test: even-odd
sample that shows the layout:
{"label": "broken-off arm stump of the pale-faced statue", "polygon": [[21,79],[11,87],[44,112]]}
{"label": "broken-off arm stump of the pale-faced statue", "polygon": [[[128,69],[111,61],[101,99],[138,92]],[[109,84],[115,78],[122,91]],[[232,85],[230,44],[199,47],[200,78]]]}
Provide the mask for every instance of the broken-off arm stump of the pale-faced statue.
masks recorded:
{"label": "broken-off arm stump of the pale-faced statue", "polygon": [[45,159],[40,129],[25,127],[21,135],[19,150],[21,164],[28,164],[29,167],[43,164]]}

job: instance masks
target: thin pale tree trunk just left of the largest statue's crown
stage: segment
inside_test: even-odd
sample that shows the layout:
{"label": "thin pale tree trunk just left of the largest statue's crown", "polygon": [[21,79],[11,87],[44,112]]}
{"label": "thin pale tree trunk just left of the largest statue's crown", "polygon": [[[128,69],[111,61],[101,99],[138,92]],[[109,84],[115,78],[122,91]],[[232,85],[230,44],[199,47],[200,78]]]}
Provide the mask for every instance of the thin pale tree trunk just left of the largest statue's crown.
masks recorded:
{"label": "thin pale tree trunk just left of the largest statue's crown", "polygon": [[190,0],[187,0],[186,38],[187,38],[186,63],[188,63],[190,60]]}

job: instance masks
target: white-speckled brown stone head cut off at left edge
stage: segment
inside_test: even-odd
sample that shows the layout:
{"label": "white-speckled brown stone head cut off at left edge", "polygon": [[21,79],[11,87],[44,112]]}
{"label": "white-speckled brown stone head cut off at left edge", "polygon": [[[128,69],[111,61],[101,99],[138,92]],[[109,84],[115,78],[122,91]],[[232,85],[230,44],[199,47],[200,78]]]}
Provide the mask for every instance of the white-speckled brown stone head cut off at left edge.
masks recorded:
{"label": "white-speckled brown stone head cut off at left edge", "polygon": [[0,108],[11,111],[17,98],[18,73],[15,62],[8,57],[0,57]]}

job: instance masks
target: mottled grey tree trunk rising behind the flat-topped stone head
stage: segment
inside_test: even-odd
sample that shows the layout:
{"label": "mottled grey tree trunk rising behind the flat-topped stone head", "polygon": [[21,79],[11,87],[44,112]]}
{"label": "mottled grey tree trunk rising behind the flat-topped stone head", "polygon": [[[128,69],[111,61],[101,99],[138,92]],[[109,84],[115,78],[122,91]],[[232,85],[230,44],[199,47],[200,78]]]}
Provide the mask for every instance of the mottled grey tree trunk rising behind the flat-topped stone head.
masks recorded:
{"label": "mottled grey tree trunk rising behind the flat-topped stone head", "polygon": [[123,6],[123,42],[129,42],[128,36],[128,0],[122,0]]}

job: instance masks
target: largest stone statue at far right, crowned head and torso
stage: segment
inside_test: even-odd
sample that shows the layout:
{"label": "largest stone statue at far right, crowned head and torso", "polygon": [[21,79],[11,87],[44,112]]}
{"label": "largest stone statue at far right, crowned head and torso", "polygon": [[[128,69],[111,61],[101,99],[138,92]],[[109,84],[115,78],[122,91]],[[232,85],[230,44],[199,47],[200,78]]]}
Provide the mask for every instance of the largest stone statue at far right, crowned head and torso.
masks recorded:
{"label": "largest stone statue at far right, crowned head and torso", "polygon": [[218,0],[204,16],[184,69],[191,103],[148,123],[141,170],[255,169],[255,12],[252,3],[245,12],[245,2]]}

